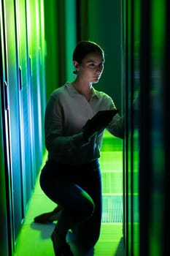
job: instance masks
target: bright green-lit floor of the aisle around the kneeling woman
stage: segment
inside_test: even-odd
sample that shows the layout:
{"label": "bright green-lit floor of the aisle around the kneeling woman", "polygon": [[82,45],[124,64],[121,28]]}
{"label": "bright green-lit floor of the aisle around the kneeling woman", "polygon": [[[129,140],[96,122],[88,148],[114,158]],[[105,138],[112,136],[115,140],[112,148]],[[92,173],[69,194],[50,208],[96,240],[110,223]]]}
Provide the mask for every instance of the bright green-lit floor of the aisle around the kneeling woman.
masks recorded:
{"label": "bright green-lit floor of the aisle around the kneeling woman", "polygon": [[[122,140],[105,132],[101,148],[101,170],[103,182],[103,217],[101,236],[88,255],[82,255],[70,242],[74,256],[123,256],[123,154]],[[55,204],[51,202],[36,182],[31,197],[26,219],[20,230],[14,256],[54,256],[50,235],[55,223],[38,224],[34,217],[43,212],[52,211]],[[69,236],[68,236],[69,240]]]}

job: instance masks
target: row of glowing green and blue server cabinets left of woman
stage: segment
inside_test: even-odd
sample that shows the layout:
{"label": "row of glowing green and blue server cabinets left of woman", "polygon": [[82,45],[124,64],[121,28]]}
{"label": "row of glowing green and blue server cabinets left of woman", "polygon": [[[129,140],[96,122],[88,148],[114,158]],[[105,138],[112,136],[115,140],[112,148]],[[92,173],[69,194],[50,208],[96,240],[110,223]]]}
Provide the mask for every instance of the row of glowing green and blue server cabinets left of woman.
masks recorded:
{"label": "row of glowing green and blue server cabinets left of woman", "polygon": [[[43,1],[1,1],[1,176],[7,252],[12,255],[45,145]],[[5,191],[4,191],[5,189]],[[1,214],[4,211],[1,212]],[[2,216],[3,217],[3,216]]]}

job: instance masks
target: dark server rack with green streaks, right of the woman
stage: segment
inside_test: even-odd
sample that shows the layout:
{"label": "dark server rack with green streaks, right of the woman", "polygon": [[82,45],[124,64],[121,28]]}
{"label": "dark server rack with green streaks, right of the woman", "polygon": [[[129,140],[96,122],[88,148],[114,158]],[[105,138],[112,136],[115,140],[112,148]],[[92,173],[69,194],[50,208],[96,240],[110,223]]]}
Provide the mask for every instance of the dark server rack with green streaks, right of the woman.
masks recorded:
{"label": "dark server rack with green streaks, right of the woman", "polygon": [[123,7],[126,255],[169,255],[169,1]]}

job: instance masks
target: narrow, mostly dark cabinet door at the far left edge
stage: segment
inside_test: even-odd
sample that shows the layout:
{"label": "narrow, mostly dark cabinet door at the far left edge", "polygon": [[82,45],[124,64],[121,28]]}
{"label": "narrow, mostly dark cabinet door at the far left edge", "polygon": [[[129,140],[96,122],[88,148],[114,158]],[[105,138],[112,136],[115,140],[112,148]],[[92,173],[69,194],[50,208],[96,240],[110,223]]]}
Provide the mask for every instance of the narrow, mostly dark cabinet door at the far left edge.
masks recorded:
{"label": "narrow, mostly dark cabinet door at the far left edge", "polygon": [[[2,14],[2,2],[0,2],[0,13]],[[6,256],[12,251],[12,226],[9,219],[11,200],[10,197],[10,183],[11,180],[9,172],[9,144],[8,139],[8,125],[7,122],[7,82],[5,82],[4,69],[4,15],[0,16],[0,244],[1,255]],[[11,199],[11,197],[10,197]]]}

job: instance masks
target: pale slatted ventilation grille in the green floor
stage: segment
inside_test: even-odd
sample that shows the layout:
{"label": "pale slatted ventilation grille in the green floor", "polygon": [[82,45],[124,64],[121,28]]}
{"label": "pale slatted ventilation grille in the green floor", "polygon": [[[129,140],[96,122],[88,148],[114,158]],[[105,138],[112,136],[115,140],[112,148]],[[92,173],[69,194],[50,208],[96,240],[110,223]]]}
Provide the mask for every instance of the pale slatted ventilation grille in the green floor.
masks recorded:
{"label": "pale slatted ventilation grille in the green floor", "polygon": [[123,222],[123,196],[103,195],[102,222]]}

